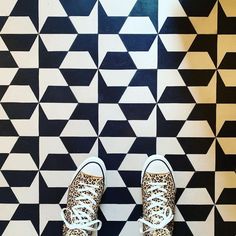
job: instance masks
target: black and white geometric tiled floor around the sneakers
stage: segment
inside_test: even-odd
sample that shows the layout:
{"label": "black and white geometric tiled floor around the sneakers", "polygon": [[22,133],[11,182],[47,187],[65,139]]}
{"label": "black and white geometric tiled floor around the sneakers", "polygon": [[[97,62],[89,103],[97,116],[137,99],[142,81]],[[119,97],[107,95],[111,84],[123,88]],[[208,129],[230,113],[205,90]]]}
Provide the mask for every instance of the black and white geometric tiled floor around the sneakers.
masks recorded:
{"label": "black and white geometric tiled floor around the sneakers", "polygon": [[96,155],[98,235],[138,236],[154,153],[175,170],[174,236],[235,236],[234,0],[0,0],[0,235],[61,235]]}

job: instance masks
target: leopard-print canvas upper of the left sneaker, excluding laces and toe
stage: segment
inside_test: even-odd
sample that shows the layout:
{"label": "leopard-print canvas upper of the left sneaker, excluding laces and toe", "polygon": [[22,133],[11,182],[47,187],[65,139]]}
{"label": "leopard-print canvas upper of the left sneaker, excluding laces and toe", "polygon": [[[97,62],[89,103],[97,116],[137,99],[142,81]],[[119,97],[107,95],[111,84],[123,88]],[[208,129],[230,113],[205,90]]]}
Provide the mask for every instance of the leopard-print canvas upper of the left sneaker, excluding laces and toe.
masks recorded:
{"label": "leopard-print canvas upper of the left sneaker, excluding laces and toe", "polygon": [[[89,215],[91,216],[92,220],[96,220],[99,203],[101,201],[102,194],[103,194],[104,188],[105,188],[104,187],[104,178],[91,176],[91,175],[87,175],[83,172],[79,172],[75,176],[71,185],[69,186],[68,197],[67,197],[67,208],[68,209],[71,209],[73,206],[78,204],[78,201],[76,200],[76,198],[79,197],[79,192],[77,191],[77,189],[81,188],[81,183],[97,185],[99,187],[99,188],[95,189],[95,192],[97,193],[97,197],[95,197],[94,195],[90,195],[96,201],[96,205],[92,205],[93,210],[94,210],[94,214],[89,212]],[[90,194],[90,193],[87,192],[87,194]],[[89,201],[86,201],[85,203],[89,204]],[[84,209],[84,211],[86,213],[88,213],[87,209]],[[71,223],[71,219],[70,219],[69,214],[65,214],[65,218],[68,222]],[[92,235],[92,232],[87,232],[87,234],[90,236],[90,235]],[[63,225],[63,236],[84,236],[84,235],[85,234],[79,229],[70,230],[66,227],[65,224]]]}

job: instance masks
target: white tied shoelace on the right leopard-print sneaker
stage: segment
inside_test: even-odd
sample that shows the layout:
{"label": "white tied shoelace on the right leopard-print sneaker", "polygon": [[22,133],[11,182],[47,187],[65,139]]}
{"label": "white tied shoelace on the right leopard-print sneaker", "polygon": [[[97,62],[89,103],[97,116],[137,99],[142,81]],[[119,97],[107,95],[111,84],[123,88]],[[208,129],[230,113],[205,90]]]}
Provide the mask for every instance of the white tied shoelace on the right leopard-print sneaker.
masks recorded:
{"label": "white tied shoelace on the right leopard-print sneaker", "polygon": [[[150,188],[147,190],[148,192],[152,192],[151,196],[147,199],[148,202],[151,202],[148,210],[151,212],[152,222],[147,220],[139,219],[139,222],[147,225],[149,228],[146,231],[140,229],[140,233],[148,233],[153,232],[158,229],[163,229],[168,231],[168,229],[164,228],[171,220],[174,218],[172,210],[170,207],[166,206],[167,199],[164,197],[164,194],[167,190],[164,188],[166,183],[150,183]],[[155,190],[158,190],[157,193],[154,193]],[[155,211],[155,207],[159,207],[159,211]],[[168,231],[169,233],[169,231]]]}

